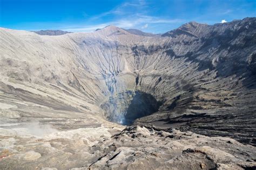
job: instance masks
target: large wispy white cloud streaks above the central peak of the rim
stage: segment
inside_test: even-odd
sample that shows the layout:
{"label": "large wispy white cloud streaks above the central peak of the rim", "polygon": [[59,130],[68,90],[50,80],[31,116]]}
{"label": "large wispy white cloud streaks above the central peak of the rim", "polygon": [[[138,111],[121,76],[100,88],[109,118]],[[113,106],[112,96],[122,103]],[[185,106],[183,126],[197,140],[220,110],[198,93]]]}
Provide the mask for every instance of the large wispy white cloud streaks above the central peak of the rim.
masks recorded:
{"label": "large wispy white cloud streaks above the central peak of the rim", "polygon": [[80,23],[77,25],[72,25],[69,28],[60,29],[71,32],[93,32],[96,29],[104,28],[107,25],[115,25],[124,29],[146,29],[149,25],[150,28],[153,28],[153,26],[156,24],[168,25],[184,23],[184,19],[168,17],[163,18],[147,15],[148,11],[149,6],[147,6],[147,3],[144,0],[138,0],[136,2],[125,2],[116,6],[112,10],[100,13],[96,16],[89,17],[85,14],[87,18],[86,23]]}

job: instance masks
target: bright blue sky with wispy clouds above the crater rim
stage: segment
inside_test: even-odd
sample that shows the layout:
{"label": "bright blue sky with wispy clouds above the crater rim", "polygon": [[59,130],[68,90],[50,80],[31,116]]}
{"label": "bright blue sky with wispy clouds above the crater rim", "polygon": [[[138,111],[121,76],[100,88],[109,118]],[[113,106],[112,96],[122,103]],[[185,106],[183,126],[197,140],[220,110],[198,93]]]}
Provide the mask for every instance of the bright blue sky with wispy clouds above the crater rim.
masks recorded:
{"label": "bright blue sky with wispy clouds above the crater rim", "polygon": [[256,0],[0,0],[0,27],[17,30],[91,32],[116,25],[163,33],[190,21],[214,24],[245,17],[256,17]]}

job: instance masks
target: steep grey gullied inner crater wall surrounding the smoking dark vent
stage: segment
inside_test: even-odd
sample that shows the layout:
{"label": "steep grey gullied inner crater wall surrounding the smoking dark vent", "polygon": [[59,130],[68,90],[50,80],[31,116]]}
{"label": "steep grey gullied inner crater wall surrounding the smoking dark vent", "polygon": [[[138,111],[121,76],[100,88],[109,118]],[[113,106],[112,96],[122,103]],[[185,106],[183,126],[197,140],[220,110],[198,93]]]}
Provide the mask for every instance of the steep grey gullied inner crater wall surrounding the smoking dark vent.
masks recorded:
{"label": "steep grey gullied inner crater wall surrounding the smoking dark vent", "polygon": [[161,37],[107,26],[51,37],[0,29],[0,39],[1,116],[177,126],[256,144],[255,18]]}

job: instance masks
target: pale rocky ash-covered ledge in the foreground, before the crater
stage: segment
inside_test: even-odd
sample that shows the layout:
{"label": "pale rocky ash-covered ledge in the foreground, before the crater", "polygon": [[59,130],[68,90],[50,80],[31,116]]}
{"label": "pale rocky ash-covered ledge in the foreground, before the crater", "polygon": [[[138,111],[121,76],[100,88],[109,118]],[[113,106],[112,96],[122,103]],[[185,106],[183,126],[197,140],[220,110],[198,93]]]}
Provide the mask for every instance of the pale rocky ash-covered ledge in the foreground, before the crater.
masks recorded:
{"label": "pale rocky ash-covered ledge in the foreground, before the crater", "polygon": [[[63,123],[47,120],[52,125],[57,121]],[[1,169],[256,168],[255,147],[231,138],[112,123],[62,131],[53,128],[59,125],[42,123],[9,126],[0,129]],[[42,133],[32,134],[30,128]]]}

